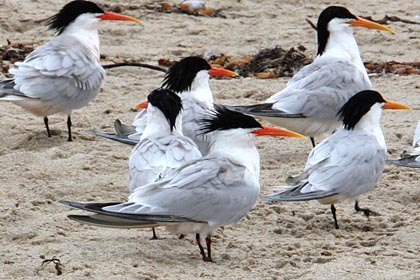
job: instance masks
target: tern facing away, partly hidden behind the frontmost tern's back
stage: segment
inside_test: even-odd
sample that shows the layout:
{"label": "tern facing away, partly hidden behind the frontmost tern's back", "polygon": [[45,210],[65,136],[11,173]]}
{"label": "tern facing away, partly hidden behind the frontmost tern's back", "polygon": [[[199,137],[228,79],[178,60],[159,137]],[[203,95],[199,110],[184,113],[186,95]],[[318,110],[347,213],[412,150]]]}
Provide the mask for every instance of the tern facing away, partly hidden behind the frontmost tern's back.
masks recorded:
{"label": "tern facing away, partly hidden behind the frontmost tern's back", "polygon": [[[197,145],[182,135],[181,98],[170,89],[156,89],[147,99],[147,124],[129,159],[130,192],[202,157]],[[152,239],[157,239],[154,228]]]}

